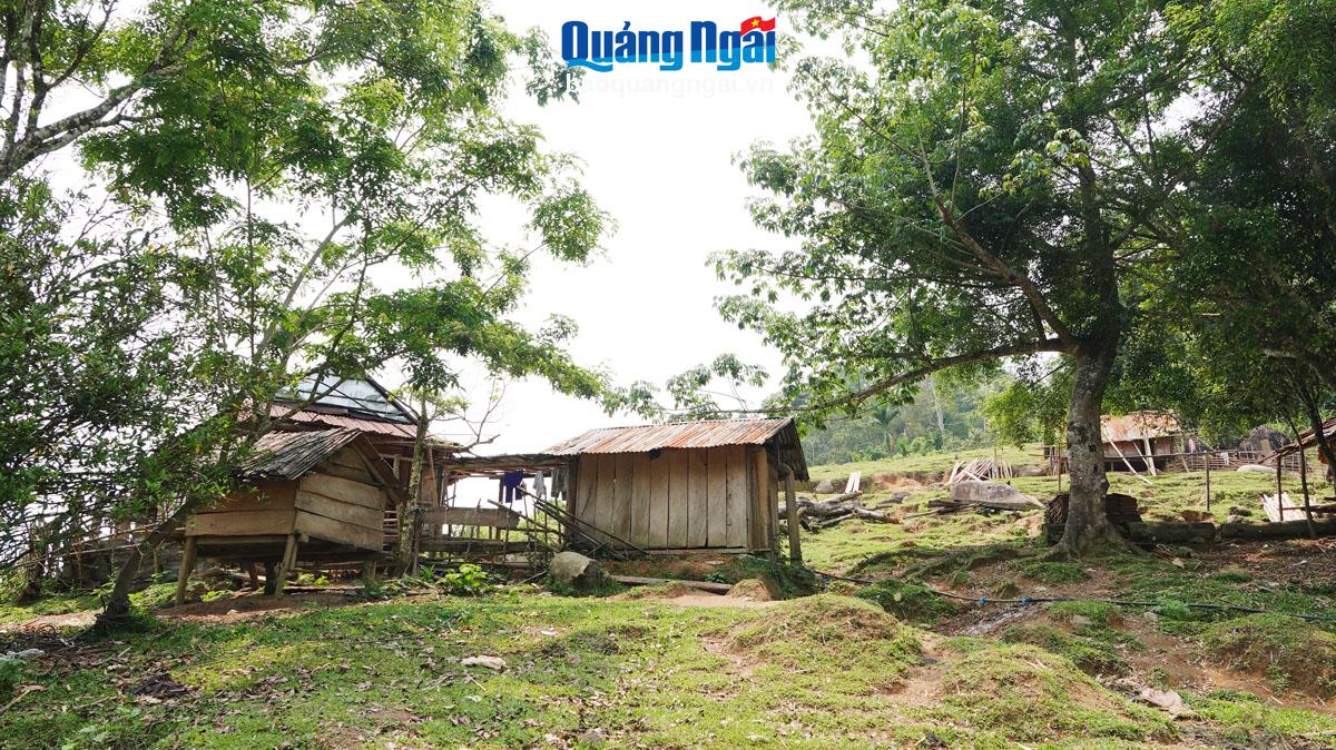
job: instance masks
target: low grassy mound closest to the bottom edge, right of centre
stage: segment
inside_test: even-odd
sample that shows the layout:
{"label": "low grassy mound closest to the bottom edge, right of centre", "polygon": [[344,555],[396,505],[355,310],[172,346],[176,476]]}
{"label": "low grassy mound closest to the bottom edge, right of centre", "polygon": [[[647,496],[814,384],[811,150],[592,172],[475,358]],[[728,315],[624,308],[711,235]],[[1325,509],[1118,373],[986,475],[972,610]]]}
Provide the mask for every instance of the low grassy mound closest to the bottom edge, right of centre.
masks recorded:
{"label": "low grassy mound closest to the bottom edge, right of centre", "polygon": [[1146,742],[1174,733],[1160,713],[1116,695],[1070,661],[1027,643],[969,650],[942,681],[950,721],[1011,742],[1059,737]]}

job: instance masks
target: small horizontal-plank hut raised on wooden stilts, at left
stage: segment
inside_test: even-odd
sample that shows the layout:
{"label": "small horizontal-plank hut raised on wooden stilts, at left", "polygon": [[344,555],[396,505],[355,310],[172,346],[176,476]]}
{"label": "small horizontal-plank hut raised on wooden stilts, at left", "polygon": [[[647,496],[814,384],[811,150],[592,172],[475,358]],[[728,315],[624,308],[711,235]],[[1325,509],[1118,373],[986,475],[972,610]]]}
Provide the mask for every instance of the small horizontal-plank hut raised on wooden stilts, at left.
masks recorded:
{"label": "small horizontal-plank hut raised on wooden stilts, at left", "polygon": [[349,427],[270,432],[239,480],[222,502],[186,519],[178,599],[196,556],[263,563],[271,593],[298,559],[374,559],[386,511],[403,491],[366,435]]}

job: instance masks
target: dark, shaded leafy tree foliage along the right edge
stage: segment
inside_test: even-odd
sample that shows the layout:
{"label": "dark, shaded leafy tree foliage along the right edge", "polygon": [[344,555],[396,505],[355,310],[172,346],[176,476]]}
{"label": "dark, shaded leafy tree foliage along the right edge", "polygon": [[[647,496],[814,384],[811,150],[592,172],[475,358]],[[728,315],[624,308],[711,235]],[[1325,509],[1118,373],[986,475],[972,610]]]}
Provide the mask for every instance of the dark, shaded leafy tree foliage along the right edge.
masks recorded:
{"label": "dark, shaded leafy tree foliage along the right edge", "polygon": [[1218,423],[1283,423],[1297,399],[1316,426],[1336,392],[1336,7],[1222,0],[1172,20],[1238,116],[1176,202],[1156,288],[1192,374],[1149,380]]}

